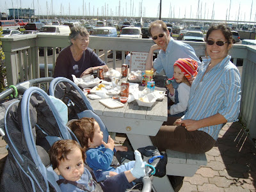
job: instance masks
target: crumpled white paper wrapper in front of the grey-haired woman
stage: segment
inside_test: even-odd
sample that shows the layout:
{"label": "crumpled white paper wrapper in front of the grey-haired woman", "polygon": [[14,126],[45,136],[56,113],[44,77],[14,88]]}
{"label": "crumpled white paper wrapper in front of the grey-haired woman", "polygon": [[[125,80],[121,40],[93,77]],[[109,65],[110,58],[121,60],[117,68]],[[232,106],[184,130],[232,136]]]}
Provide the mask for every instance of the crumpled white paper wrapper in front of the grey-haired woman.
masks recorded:
{"label": "crumpled white paper wrapper in front of the grey-haired woman", "polygon": [[72,77],[74,83],[76,83],[77,86],[81,88],[92,88],[93,86],[96,86],[102,81],[99,79],[99,77],[94,78],[93,75],[82,78],[77,78],[76,76],[72,75]]}

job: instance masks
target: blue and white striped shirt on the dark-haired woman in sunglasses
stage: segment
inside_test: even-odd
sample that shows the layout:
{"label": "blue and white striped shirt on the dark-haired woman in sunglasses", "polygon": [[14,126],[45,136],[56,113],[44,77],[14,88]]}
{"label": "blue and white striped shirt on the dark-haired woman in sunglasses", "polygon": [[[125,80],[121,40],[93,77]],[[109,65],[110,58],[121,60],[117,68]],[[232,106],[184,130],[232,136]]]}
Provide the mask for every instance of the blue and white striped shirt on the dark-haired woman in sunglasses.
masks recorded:
{"label": "blue and white striped shirt on the dark-haired woman in sunglasses", "polygon": [[[226,56],[204,76],[210,62],[202,62],[191,86],[185,119],[201,120],[220,113],[228,122],[236,122],[241,100],[241,79],[237,67]],[[204,76],[202,82],[201,79]],[[217,140],[222,124],[198,129]]]}

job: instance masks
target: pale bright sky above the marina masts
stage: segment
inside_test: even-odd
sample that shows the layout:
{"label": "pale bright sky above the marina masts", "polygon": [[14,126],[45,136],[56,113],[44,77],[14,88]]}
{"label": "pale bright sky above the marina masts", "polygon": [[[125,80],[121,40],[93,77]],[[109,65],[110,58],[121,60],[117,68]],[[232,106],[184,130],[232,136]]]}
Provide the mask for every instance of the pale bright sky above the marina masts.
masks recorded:
{"label": "pale bright sky above the marina masts", "polygon": [[[35,15],[112,15],[118,17],[119,3],[120,16],[139,17],[140,10],[142,10],[143,17],[159,17],[160,0],[1,0],[0,11],[6,12],[7,10],[9,13],[9,8],[33,9],[35,7]],[[142,4],[142,9],[140,4]],[[228,20],[229,18],[229,20],[256,22],[255,14],[255,0],[199,0],[199,3],[198,0],[162,0],[162,18],[198,19],[202,17],[202,19],[216,20]]]}

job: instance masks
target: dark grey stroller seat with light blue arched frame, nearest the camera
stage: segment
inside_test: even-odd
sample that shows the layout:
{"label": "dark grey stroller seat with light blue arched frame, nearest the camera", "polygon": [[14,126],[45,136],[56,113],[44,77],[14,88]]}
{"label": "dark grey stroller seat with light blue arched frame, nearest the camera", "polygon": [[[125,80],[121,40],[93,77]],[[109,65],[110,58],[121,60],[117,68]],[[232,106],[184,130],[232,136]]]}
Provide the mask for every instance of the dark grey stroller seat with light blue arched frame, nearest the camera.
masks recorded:
{"label": "dark grey stroller seat with light blue arched frame, nearest the camera", "polygon": [[[49,166],[45,143],[51,145],[54,140],[74,139],[74,136],[49,95],[36,87],[26,90],[21,100],[12,102],[6,109],[4,131],[9,154],[4,164],[1,191],[60,191],[56,174]],[[151,172],[148,168],[147,174]],[[151,184],[148,177],[144,180]]]}

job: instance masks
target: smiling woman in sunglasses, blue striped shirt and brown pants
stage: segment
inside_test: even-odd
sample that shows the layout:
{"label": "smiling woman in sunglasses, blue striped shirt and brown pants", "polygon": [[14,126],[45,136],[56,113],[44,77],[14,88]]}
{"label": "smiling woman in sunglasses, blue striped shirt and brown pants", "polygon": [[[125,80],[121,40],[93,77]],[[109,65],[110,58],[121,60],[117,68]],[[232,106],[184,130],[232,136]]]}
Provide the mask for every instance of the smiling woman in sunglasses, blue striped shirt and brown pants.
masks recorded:
{"label": "smiling woman in sunglasses, blue striped shirt and brown pants", "polygon": [[206,35],[206,52],[211,61],[200,65],[192,83],[188,111],[177,122],[180,126],[163,125],[152,143],[165,150],[200,154],[214,147],[226,122],[239,115],[241,80],[237,67],[230,61],[232,33],[223,25],[212,26]]}

